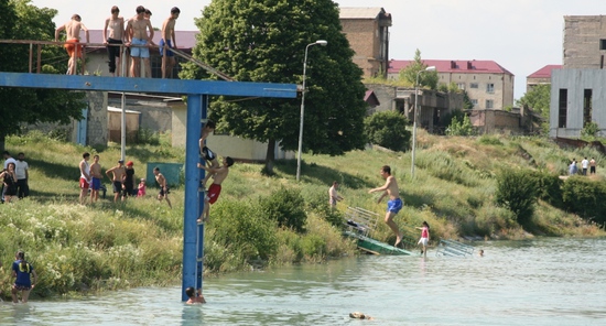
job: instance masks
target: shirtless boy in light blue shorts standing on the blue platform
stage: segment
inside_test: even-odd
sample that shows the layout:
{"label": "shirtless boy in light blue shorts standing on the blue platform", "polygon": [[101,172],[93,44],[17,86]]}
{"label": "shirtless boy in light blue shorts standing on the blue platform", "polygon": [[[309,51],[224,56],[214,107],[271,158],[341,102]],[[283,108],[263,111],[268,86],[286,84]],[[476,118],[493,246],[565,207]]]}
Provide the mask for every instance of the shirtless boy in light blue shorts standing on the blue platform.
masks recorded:
{"label": "shirtless boy in light blue shorts standing on the blue platform", "polygon": [[[148,30],[150,32],[149,35]],[[139,45],[130,48],[130,56],[132,58],[132,64],[130,66],[131,77],[139,77],[137,67],[139,67],[141,58],[145,59],[150,57],[149,46],[151,45],[150,40],[152,39],[153,26],[151,25],[151,22],[145,19],[145,8],[143,8],[143,6],[139,6],[137,7],[137,15],[128,21],[126,30],[126,45]]]}

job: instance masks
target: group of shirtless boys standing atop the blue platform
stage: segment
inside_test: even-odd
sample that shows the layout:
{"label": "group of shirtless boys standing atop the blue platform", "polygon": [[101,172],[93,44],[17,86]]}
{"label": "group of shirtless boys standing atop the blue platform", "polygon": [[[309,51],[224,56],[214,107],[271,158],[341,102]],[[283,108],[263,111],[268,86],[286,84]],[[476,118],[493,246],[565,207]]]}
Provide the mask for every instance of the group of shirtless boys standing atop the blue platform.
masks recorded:
{"label": "group of shirtless boys standing atop the blue platform", "polygon": [[[110,17],[104,25],[104,44],[107,46],[109,73],[112,76],[120,76],[120,58],[128,64],[131,58],[129,76],[151,77],[150,47],[156,46],[153,42],[154,30],[151,23],[152,12],[143,6],[136,9],[136,15],[125,20],[120,15],[117,6],[111,7]],[[176,7],[171,9],[171,14],[162,23],[162,37],[160,55],[162,56],[162,78],[172,77],[173,67],[176,64],[174,52],[176,50],[175,23],[181,10]],[[72,20],[55,30],[55,42],[59,41],[61,33],[65,31],[66,41],[64,47],[69,55],[67,75],[76,75],[77,59],[83,57],[84,45],[80,42],[80,31],[85,32],[86,43],[90,43],[88,29],[82,22],[79,14],[72,15]],[[127,47],[121,52],[122,45]],[[144,74],[140,74],[140,69]]]}

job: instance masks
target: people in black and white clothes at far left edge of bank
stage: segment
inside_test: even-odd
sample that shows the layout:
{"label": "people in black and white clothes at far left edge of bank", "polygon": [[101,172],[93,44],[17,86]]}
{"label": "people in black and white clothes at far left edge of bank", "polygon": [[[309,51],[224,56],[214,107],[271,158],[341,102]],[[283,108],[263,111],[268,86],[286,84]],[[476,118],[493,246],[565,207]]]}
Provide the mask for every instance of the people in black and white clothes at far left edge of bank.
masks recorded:
{"label": "people in black and white clothes at far left edge of bank", "polygon": [[9,151],[3,151],[4,169],[0,172],[2,180],[1,203],[11,203],[14,198],[24,198],[30,195],[30,165],[25,162],[23,152],[17,155],[17,160]]}

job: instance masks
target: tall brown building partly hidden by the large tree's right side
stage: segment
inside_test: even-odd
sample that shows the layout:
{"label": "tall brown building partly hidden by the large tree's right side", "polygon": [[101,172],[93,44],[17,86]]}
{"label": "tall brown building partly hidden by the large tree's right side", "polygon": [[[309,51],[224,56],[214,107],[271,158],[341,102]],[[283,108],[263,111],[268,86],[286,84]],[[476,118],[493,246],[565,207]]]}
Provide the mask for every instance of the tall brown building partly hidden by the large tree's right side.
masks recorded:
{"label": "tall brown building partly hidden by the large tree's right side", "polygon": [[365,77],[387,75],[389,64],[389,28],[391,14],[382,8],[339,8],[339,20],[349,46],[356,53],[354,63]]}

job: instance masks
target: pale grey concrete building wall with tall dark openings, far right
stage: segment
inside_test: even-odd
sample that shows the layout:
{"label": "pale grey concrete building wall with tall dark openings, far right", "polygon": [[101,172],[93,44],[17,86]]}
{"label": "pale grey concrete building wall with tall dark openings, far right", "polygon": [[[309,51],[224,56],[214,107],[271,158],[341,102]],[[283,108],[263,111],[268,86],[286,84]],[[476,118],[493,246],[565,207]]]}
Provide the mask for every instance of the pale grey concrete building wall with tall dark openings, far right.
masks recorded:
{"label": "pale grey concrete building wall with tall dark openings, far right", "polygon": [[[551,75],[551,105],[549,135],[563,138],[581,137],[583,129],[583,101],[585,89],[592,89],[592,121],[599,128],[599,135],[606,135],[606,70],[559,69]],[[560,89],[567,90],[566,123],[560,121]]]}

